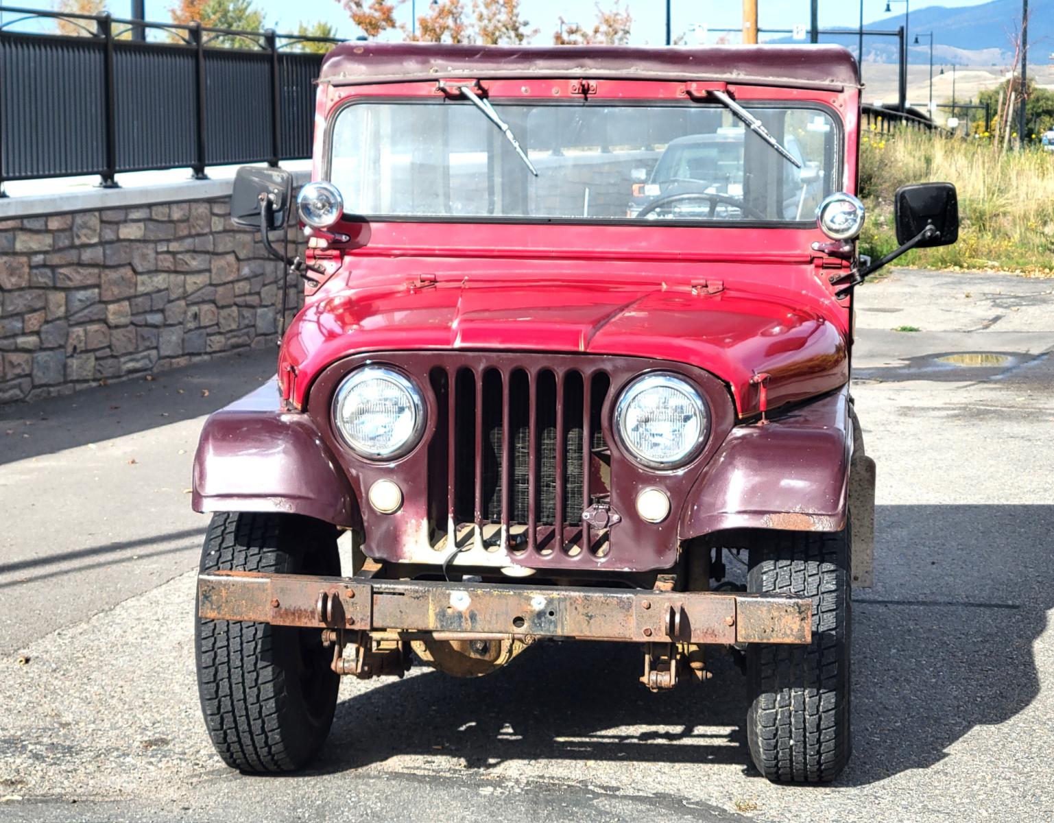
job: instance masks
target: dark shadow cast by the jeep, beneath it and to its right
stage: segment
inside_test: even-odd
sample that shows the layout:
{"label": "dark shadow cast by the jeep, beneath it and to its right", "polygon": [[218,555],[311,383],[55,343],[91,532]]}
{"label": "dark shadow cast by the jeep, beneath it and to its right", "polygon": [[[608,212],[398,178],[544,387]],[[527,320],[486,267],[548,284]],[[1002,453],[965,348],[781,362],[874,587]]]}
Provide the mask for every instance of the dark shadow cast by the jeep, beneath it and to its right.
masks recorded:
{"label": "dark shadow cast by the jeep, beneath it and to its right", "polygon": [[[1054,506],[880,506],[879,588],[854,603],[854,755],[838,785],[926,768],[1039,690],[1032,645],[1054,607]],[[318,771],[398,755],[503,761],[749,763],[745,680],[651,694],[636,647],[542,644],[497,673],[428,672],[337,706]],[[643,727],[643,730],[642,728]],[[583,769],[587,768],[584,764]]]}

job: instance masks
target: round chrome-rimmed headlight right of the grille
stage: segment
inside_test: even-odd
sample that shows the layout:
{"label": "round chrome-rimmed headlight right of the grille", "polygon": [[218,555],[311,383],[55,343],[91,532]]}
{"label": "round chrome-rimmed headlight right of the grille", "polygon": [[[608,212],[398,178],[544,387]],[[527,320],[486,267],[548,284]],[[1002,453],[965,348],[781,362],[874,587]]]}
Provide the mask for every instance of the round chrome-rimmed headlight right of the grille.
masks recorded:
{"label": "round chrome-rimmed headlight right of the grille", "polygon": [[676,374],[638,377],[614,408],[619,440],[638,463],[653,469],[672,469],[695,457],[709,425],[702,395]]}

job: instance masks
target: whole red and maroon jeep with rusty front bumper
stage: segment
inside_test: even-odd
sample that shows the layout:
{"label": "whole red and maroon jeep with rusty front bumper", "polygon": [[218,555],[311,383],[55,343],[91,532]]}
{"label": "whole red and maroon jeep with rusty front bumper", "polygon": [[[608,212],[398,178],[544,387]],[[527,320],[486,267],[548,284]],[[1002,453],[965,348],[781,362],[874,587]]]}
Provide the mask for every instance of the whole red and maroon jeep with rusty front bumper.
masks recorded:
{"label": "whole red and maroon jeep with rusty front bumper", "polygon": [[[909,187],[901,247],[857,254],[859,110],[833,46],[329,55],[306,305],[195,461],[227,763],[305,765],[340,674],[559,638],[638,644],[653,691],[731,653],[758,769],[838,775],[874,523],[854,287],[958,226],[951,185]],[[269,249],[292,208],[287,173],[239,172]]]}

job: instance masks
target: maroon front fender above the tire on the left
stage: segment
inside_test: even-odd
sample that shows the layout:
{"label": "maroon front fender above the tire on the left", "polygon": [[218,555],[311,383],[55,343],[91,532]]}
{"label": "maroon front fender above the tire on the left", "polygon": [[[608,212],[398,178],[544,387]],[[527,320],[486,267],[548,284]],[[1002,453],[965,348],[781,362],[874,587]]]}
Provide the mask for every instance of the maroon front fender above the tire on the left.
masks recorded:
{"label": "maroon front fender above the tire on the left", "polygon": [[315,425],[280,403],[272,379],[209,416],[194,456],[194,511],[305,514],[360,528],[358,503]]}

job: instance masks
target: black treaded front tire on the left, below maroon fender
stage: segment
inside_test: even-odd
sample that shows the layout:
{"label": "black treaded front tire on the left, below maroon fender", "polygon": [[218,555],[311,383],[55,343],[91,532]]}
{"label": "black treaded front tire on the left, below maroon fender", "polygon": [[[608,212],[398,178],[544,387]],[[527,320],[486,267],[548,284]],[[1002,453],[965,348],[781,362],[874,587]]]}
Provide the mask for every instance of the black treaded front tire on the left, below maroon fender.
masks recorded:
{"label": "black treaded front tire on the left, below maroon fender", "polygon": [[[339,574],[336,529],[289,514],[216,514],[201,571]],[[198,694],[216,751],[241,771],[293,771],[329,733],[340,678],[321,632],[197,620]]]}

